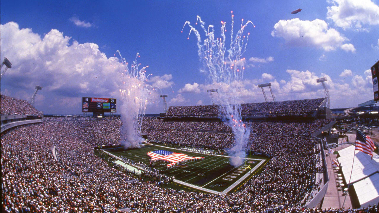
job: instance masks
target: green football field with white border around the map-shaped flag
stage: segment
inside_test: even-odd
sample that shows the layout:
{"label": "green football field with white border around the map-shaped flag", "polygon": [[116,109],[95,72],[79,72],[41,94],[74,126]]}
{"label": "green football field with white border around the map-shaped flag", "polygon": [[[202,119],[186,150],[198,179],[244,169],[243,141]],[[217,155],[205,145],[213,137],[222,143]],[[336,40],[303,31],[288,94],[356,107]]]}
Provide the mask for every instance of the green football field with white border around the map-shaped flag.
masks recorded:
{"label": "green football field with white border around the map-shaped flag", "polygon": [[[227,156],[189,152],[154,144],[146,144],[140,148],[128,150],[123,147],[103,150],[117,157],[123,156],[135,162],[142,162],[147,166],[150,165],[150,157],[147,152],[155,150],[168,150],[184,153],[191,157],[204,157],[204,160],[189,161],[171,169],[167,169],[166,166],[169,162],[160,161],[155,163],[154,168],[160,170],[161,174],[174,176],[175,182],[178,184],[215,194],[225,194],[238,188],[268,161],[268,158],[251,156],[251,158],[243,159],[240,166],[234,167],[229,163],[230,157]],[[251,170],[246,169],[247,166],[250,166]]]}

